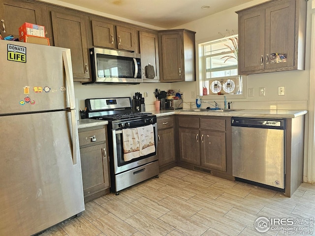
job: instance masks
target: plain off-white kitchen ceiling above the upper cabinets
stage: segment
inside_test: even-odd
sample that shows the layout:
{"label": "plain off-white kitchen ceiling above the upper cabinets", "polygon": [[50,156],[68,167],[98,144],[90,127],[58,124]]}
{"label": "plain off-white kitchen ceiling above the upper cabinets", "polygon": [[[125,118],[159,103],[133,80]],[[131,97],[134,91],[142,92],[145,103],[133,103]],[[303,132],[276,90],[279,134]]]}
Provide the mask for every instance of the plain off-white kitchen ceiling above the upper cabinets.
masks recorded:
{"label": "plain off-white kitchen ceiling above the upper cabinets", "polygon": [[[171,29],[252,0],[60,0],[152,26]],[[202,6],[210,6],[202,9]]]}

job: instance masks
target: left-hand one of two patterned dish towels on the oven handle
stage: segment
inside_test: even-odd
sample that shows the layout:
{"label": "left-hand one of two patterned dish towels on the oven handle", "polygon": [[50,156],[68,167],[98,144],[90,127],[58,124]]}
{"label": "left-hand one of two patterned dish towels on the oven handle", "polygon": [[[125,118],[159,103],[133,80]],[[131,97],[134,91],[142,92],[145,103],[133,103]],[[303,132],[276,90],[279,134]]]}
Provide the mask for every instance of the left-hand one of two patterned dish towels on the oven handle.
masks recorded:
{"label": "left-hand one of two patterned dish towels on the oven handle", "polygon": [[130,161],[140,156],[137,128],[123,129],[124,160]]}

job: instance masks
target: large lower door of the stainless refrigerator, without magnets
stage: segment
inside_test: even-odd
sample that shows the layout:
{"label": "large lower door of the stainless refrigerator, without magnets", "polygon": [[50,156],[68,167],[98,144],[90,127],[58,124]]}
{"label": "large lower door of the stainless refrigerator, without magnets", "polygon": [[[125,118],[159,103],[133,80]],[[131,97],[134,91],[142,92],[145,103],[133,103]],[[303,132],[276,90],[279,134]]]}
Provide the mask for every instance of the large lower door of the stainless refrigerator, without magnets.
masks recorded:
{"label": "large lower door of the stainless refrigerator, without magnets", "polygon": [[0,117],[1,235],[33,235],[84,210],[69,120],[66,111]]}

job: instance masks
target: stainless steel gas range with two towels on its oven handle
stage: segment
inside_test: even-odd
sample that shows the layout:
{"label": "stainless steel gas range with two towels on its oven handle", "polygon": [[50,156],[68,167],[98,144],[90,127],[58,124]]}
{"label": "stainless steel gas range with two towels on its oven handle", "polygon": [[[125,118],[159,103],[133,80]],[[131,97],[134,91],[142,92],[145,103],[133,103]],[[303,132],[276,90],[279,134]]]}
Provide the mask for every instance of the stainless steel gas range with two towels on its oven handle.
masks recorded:
{"label": "stainless steel gas range with two towels on its oven handle", "polygon": [[[133,113],[130,97],[86,99],[85,104],[88,118],[108,121],[111,192],[118,194],[122,189],[158,176],[158,131],[155,115]],[[141,139],[140,134],[145,137],[144,133],[147,136]],[[140,147],[134,148],[131,145],[131,148],[126,148],[132,141],[137,141]],[[146,141],[148,144],[142,145]],[[136,146],[137,142],[132,144]],[[145,148],[149,151],[142,151]],[[132,158],[127,156],[130,152]]]}

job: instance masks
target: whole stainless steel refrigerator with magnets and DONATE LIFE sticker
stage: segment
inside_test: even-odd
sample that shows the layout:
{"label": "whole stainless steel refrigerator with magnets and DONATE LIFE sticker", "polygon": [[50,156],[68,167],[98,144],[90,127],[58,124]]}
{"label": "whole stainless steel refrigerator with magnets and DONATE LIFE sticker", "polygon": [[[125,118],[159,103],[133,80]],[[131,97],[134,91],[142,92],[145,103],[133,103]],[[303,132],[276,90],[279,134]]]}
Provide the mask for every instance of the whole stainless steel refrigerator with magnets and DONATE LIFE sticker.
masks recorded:
{"label": "whole stainless steel refrigerator with magnets and DONATE LIFE sticker", "polygon": [[0,40],[0,235],[84,210],[70,50]]}

